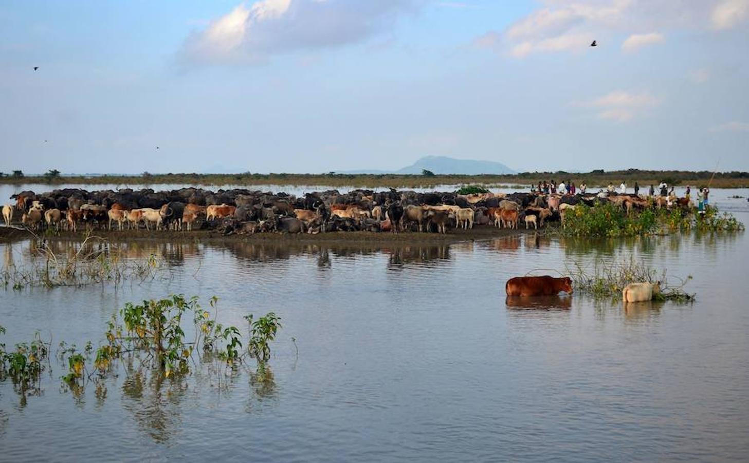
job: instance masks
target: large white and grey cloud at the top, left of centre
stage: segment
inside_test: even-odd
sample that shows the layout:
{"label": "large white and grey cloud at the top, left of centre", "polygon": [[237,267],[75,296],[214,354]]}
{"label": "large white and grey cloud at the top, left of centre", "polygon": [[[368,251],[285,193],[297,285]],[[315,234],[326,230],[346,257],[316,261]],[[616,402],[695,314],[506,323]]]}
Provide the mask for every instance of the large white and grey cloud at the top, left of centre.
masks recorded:
{"label": "large white and grey cloud at the top, left of centre", "polygon": [[239,4],[185,40],[187,65],[255,64],[273,55],[358,43],[423,0],[262,0]]}

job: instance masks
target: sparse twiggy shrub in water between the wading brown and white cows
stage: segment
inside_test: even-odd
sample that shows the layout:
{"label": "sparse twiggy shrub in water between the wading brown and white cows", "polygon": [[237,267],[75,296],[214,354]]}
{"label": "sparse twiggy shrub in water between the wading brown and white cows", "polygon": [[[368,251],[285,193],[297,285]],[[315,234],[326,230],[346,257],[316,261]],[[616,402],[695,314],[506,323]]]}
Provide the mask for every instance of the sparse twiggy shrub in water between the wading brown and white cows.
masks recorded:
{"label": "sparse twiggy shrub in water between the wading brown and white cows", "polygon": [[634,257],[619,261],[597,261],[592,268],[585,268],[579,262],[573,267],[567,267],[566,275],[572,279],[574,291],[589,294],[596,298],[622,297],[622,290],[630,283],[660,282],[661,292],[655,296],[656,300],[675,300],[677,302],[691,302],[694,294],[684,291],[686,283],[692,279],[678,279],[679,284],[672,285],[667,277],[667,270],[656,270],[649,267],[645,261],[636,261]]}

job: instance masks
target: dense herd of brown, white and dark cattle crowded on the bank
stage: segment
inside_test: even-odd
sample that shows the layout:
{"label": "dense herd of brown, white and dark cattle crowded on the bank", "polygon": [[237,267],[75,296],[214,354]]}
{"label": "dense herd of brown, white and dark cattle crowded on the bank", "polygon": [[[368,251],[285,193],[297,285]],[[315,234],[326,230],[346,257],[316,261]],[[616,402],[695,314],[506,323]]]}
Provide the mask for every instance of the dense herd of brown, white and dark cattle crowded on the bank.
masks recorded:
{"label": "dense herd of brown, white and dark cattle crowded on the bank", "polygon": [[[307,193],[263,193],[243,189],[213,192],[198,188],[154,192],[151,189],[88,192],[24,191],[5,205],[5,225],[14,220],[30,229],[218,229],[224,234],[264,231],[436,231],[493,225],[535,228],[564,220],[575,205],[614,202],[627,211],[645,208],[634,195],[561,196],[537,193],[458,195],[413,191],[337,190]],[[657,201],[660,198],[656,199]],[[665,201],[665,200],[664,200]],[[660,204],[658,203],[660,206]],[[665,205],[665,203],[664,203]]]}

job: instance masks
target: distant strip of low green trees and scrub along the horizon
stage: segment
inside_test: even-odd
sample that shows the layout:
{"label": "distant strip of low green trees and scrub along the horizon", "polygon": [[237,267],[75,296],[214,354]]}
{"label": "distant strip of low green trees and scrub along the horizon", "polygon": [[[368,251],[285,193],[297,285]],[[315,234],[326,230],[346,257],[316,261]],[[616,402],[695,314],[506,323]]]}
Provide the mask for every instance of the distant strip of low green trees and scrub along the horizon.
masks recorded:
{"label": "distant strip of low green trees and scrub along the horizon", "polygon": [[[3,184],[195,184],[195,185],[321,185],[330,187],[392,187],[392,188],[429,188],[435,185],[469,185],[479,184],[485,187],[509,185],[526,188],[539,181],[574,181],[585,182],[589,187],[604,187],[609,183],[620,184],[625,181],[629,186],[635,181],[640,186],[659,184],[665,181],[670,185],[703,186],[713,178],[713,172],[680,171],[680,170],[640,170],[627,169],[592,172],[521,172],[514,175],[398,175],[398,174],[151,174],[141,175],[61,175],[50,170],[45,175],[23,175],[20,171],[12,174],[0,172],[0,183]],[[717,172],[712,179],[715,188],[749,187],[749,172]]]}

